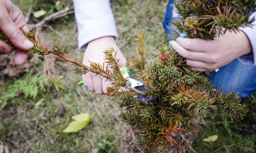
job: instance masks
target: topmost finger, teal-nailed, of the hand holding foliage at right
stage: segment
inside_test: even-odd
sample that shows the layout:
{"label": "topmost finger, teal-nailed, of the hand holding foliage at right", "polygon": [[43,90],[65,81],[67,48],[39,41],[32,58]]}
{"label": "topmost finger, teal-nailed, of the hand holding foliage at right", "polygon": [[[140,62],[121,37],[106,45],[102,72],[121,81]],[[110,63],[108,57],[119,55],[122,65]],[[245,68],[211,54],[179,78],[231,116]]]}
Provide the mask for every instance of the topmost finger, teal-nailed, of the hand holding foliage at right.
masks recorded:
{"label": "topmost finger, teal-nailed, of the hand holding foliage at right", "polygon": [[205,52],[210,47],[209,41],[199,38],[189,39],[179,37],[176,41],[180,46],[192,52]]}

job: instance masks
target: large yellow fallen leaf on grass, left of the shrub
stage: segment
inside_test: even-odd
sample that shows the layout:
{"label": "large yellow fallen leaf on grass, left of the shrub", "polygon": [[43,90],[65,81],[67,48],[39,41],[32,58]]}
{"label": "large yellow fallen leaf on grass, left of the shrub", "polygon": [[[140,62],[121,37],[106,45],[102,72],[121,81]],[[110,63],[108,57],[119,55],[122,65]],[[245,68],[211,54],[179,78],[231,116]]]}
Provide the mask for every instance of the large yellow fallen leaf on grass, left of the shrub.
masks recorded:
{"label": "large yellow fallen leaf on grass, left of the shrub", "polygon": [[85,127],[89,121],[91,116],[88,113],[81,113],[76,116],[72,116],[74,121],[72,121],[69,126],[63,130],[64,133],[78,132]]}

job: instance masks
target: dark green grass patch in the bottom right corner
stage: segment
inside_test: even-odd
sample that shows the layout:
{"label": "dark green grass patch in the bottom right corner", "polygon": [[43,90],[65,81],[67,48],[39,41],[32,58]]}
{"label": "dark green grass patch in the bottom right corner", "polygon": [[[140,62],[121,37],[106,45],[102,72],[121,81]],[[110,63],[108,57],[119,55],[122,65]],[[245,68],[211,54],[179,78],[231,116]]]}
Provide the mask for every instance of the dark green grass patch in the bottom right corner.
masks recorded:
{"label": "dark green grass patch in the bottom right corner", "polygon": [[[256,95],[242,100],[248,110],[243,119],[231,121],[223,110],[214,113],[202,113],[200,117],[200,132],[193,147],[198,152],[255,152],[256,150]],[[218,135],[215,142],[204,142],[203,139],[211,135]]]}

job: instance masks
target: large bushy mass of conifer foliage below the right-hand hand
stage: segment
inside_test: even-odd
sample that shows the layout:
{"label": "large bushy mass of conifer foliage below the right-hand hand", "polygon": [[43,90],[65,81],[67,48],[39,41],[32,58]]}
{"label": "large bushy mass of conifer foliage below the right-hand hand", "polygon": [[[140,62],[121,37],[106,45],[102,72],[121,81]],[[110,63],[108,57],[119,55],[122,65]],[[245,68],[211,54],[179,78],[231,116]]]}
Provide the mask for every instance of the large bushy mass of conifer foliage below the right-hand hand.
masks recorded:
{"label": "large bushy mass of conifer foliage below the right-hand hand", "polygon": [[[137,36],[139,45],[144,45],[142,37],[143,34]],[[170,128],[174,125],[182,127],[185,133],[198,132],[195,118],[199,111],[213,110],[217,113],[218,108],[224,108],[231,118],[243,117],[247,113],[240,104],[237,93],[226,94],[213,88],[206,77],[197,71],[191,71],[186,66],[185,59],[175,50],[160,46],[157,53],[157,58],[145,64],[144,69],[141,69],[141,62],[138,62],[142,58],[133,58],[129,62],[131,67],[137,68],[144,84],[151,87],[146,94],[157,95],[158,98],[146,103],[129,92],[120,97],[122,121],[142,131],[136,137],[138,146],[148,152],[158,152],[159,148],[167,149],[170,140],[166,135],[171,137],[177,132]],[[140,55],[145,56],[143,52]],[[162,55],[166,56],[166,60],[162,61]]]}

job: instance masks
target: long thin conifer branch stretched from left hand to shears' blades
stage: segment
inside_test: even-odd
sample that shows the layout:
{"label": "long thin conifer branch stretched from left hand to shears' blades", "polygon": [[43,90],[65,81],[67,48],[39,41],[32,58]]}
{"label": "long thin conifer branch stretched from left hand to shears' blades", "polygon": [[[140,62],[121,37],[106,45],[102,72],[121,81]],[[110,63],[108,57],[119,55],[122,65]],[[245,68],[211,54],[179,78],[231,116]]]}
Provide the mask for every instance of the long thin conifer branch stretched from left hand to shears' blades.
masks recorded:
{"label": "long thin conifer branch stretched from left hand to shears' blades", "polygon": [[[136,94],[141,94],[143,96],[146,96],[146,94],[144,92],[141,92],[141,91],[139,91],[135,88],[132,88],[132,87],[125,84],[126,80],[123,78],[123,76],[122,76],[122,74],[119,70],[119,66],[117,64],[118,61],[115,60],[115,55],[112,56],[113,52],[115,51],[114,48],[110,48],[109,50],[106,49],[105,54],[107,56],[106,60],[108,60],[107,63],[109,63],[111,65],[110,68],[113,68],[114,71],[116,71],[118,73],[118,77],[113,76],[111,71],[108,69],[108,66],[106,66],[105,69],[104,69],[104,65],[102,67],[102,66],[100,66],[99,64],[96,64],[96,63],[91,63],[91,67],[86,66],[86,65],[82,64],[79,59],[78,59],[79,62],[77,62],[76,60],[72,59],[71,57],[65,55],[64,54],[64,49],[61,46],[61,44],[57,43],[54,39],[53,39],[52,46],[47,47],[39,39],[38,39],[38,41],[36,40],[35,31],[34,31],[34,33],[26,33],[26,32],[23,31],[23,33],[31,42],[34,43],[33,48],[31,50],[27,51],[28,54],[37,53],[41,56],[48,55],[48,54],[54,54],[54,55],[58,56],[56,58],[61,60],[61,61],[66,61],[66,62],[73,63],[73,65],[76,66],[76,68],[74,69],[76,74],[82,75],[82,74],[86,74],[87,71],[90,71],[90,72],[93,72],[97,75],[101,75],[101,77],[105,78],[106,81],[114,81],[116,79],[119,79],[119,83],[116,84],[117,86],[125,86],[127,89],[133,91]],[[13,46],[13,44],[11,43],[9,38],[1,31],[0,31],[0,40],[6,42],[8,45]]]}

